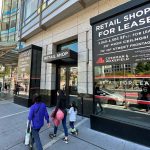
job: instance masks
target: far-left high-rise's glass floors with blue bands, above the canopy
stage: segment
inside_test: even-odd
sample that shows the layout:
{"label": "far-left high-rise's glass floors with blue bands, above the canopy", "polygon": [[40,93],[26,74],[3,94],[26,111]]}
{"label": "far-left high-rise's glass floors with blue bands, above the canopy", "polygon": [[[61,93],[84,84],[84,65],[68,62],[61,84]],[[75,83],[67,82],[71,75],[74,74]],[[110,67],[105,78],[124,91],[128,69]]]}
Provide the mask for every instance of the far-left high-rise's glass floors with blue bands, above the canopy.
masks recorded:
{"label": "far-left high-rise's glass floors with blue bands, above the canopy", "polygon": [[16,41],[18,0],[2,0],[0,41]]}

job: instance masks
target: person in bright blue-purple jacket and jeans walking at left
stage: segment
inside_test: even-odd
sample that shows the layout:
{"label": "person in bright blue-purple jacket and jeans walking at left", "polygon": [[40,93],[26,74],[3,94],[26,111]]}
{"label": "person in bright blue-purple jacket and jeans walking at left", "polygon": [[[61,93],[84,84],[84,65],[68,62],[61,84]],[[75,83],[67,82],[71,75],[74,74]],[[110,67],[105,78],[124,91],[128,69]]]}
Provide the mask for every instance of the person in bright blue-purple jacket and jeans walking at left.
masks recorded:
{"label": "person in bright blue-purple jacket and jeans walking at left", "polygon": [[44,125],[44,118],[47,121],[48,128],[50,127],[49,123],[49,115],[46,109],[46,105],[41,102],[41,96],[39,94],[35,94],[33,98],[34,104],[30,108],[28,120],[32,125],[32,138],[33,143],[30,145],[30,147],[33,147],[33,144],[35,142],[36,149],[37,150],[43,150],[39,131],[41,127]]}

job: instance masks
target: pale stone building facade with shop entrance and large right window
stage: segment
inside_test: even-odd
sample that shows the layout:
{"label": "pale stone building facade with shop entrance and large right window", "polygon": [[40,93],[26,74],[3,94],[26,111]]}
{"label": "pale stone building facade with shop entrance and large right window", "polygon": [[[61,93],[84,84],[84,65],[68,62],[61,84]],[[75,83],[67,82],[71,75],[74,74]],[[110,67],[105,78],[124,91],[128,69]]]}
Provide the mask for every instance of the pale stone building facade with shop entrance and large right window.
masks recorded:
{"label": "pale stone building facade with shop entrance and large right window", "polygon": [[[131,7],[127,9],[126,6]],[[136,0],[26,0],[22,1],[21,8],[23,11],[20,17],[19,39],[24,41],[26,46],[34,44],[42,47],[40,93],[44,96],[46,104],[55,105],[56,91],[63,89],[68,104],[73,100],[76,101],[81,114],[90,116],[94,113],[96,120],[101,118],[99,122],[93,119],[97,125],[93,125],[91,119],[93,129],[100,131],[103,129],[103,132],[135,142],[138,140],[133,138],[133,135],[138,139],[138,134],[142,134],[145,139],[149,139],[149,135],[144,134],[149,133],[150,122],[149,59],[144,62],[129,62],[130,53],[126,51],[121,56],[109,56],[108,63],[104,65],[104,58],[95,55],[96,51],[101,56],[105,49],[108,54],[111,52],[105,38],[108,33],[112,33],[113,36],[115,29],[110,28],[104,32],[103,29],[108,28],[108,22],[105,21],[113,18],[112,15],[117,9],[120,11],[114,16],[135,10],[129,15],[130,20],[136,19],[136,16],[141,17],[142,20],[139,22],[146,29],[141,33],[121,37],[122,39],[111,39],[113,51],[123,51],[129,44],[134,47],[134,44],[137,44],[135,42],[139,43],[140,40],[148,42],[150,32],[146,25],[150,22],[149,2],[147,0],[142,2],[140,0],[138,2]],[[112,15],[107,13],[110,10]],[[97,15],[101,16],[90,24],[90,19]],[[99,20],[104,22],[103,25],[97,25]],[[125,20],[128,21],[129,18],[126,16]],[[121,24],[119,21],[117,19],[110,21],[109,27]],[[132,26],[136,26],[136,23],[133,22]],[[96,31],[92,32],[95,24],[98,35],[104,36],[103,41],[99,42],[96,48],[92,42],[97,36]],[[121,25],[120,30],[123,30]],[[127,22],[124,28],[128,29],[128,26]],[[139,29],[139,26],[135,28]],[[147,44],[149,47],[149,43]],[[100,47],[101,45],[104,46]],[[147,50],[146,53],[149,51]],[[149,55],[146,55],[149,58]],[[117,122],[115,129],[104,128],[106,124],[112,123],[112,120]],[[101,121],[105,124],[103,127],[99,126]],[[121,129],[118,128],[120,122]],[[128,128],[126,124],[132,125],[134,129],[140,126],[141,133],[130,133],[128,129],[131,129],[131,126]],[[126,135],[124,130],[131,136]],[[147,145],[148,141],[145,141],[141,143]]]}

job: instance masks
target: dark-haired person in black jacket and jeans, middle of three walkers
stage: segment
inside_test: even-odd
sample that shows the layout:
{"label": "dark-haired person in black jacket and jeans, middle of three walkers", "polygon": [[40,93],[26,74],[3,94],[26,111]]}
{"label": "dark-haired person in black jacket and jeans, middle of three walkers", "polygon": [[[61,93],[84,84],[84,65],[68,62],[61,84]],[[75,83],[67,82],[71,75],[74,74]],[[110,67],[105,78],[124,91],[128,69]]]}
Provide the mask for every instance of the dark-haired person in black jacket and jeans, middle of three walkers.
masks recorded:
{"label": "dark-haired person in black jacket and jeans, middle of three walkers", "polygon": [[[63,128],[64,128],[65,137],[64,137],[63,140],[64,140],[65,143],[68,143],[68,128],[67,128],[67,125],[66,125],[66,118],[67,118],[66,96],[64,94],[64,91],[62,91],[62,90],[57,91],[57,104],[56,104],[55,111],[53,113],[53,118],[55,118],[58,109],[60,109],[64,113],[64,118],[62,120],[62,125],[63,125]],[[54,134],[49,135],[51,138],[56,137],[57,129],[58,129],[58,127],[54,126]]]}

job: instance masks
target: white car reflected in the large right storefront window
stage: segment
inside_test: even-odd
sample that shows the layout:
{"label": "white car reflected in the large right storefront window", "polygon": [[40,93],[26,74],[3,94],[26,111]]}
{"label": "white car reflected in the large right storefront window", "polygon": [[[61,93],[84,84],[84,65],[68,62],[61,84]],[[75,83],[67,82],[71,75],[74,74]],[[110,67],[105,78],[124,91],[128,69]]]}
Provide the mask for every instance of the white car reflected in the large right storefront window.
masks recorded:
{"label": "white car reflected in the large right storefront window", "polygon": [[96,92],[96,97],[100,98],[101,103],[112,105],[124,105],[125,97],[117,92],[108,89],[99,89]]}

